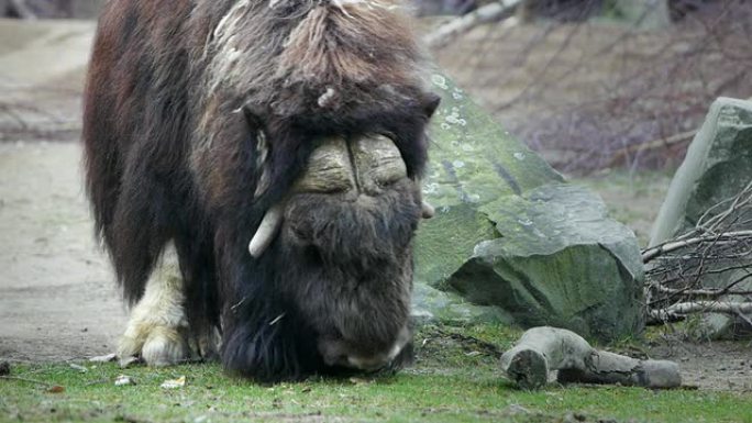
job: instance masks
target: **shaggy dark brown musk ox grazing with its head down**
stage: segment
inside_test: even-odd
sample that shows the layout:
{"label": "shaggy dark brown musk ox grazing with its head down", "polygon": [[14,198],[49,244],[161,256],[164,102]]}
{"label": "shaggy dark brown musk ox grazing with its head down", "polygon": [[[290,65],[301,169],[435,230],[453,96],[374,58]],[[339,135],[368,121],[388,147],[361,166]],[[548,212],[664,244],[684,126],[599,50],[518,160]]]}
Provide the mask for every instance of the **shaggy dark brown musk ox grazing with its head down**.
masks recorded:
{"label": "shaggy dark brown musk ox grazing with its head down", "polygon": [[422,66],[384,0],[108,2],[84,142],[134,304],[120,359],[263,381],[408,360]]}

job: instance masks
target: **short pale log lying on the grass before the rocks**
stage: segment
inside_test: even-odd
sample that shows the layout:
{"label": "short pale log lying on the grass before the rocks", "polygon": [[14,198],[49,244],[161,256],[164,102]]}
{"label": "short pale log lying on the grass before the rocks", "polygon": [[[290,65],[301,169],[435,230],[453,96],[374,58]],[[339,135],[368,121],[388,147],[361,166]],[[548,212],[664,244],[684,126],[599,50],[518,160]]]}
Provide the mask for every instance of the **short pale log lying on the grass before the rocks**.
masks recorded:
{"label": "short pale log lying on the grass before the rocks", "polygon": [[678,365],[667,360],[640,360],[597,350],[572,331],[533,327],[501,356],[501,369],[522,389],[543,387],[559,370],[562,383],[619,383],[645,388],[682,385]]}

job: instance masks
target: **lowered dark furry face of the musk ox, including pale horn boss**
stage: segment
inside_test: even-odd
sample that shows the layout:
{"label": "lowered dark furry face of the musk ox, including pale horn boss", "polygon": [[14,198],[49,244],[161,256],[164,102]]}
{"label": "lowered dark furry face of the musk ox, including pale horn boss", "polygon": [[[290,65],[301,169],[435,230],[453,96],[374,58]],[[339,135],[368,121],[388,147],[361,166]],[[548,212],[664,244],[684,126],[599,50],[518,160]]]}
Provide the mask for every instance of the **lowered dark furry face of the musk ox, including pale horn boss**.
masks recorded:
{"label": "lowered dark furry face of the musk ox, including pale horn boss", "polygon": [[284,207],[277,283],[328,366],[405,361],[420,186],[387,137],[331,138]]}

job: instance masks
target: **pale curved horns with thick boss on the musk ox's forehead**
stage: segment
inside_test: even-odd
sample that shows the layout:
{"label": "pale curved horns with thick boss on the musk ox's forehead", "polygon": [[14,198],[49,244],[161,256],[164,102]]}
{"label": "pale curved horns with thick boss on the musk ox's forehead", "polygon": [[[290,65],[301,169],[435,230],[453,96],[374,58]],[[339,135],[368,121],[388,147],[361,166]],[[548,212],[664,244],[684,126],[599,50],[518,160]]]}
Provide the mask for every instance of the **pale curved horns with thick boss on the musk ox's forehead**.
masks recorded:
{"label": "pale curved horns with thick boss on the musk ox's forehead", "polygon": [[[352,140],[333,136],[321,140],[311,153],[306,171],[292,187],[290,196],[339,194],[344,201],[367,205],[371,199],[406,178],[405,160],[387,136],[377,134]],[[261,257],[279,233],[290,196],[273,204],[264,214],[248,243],[248,253],[254,258]],[[430,219],[433,214],[433,207],[422,201],[421,216]]]}

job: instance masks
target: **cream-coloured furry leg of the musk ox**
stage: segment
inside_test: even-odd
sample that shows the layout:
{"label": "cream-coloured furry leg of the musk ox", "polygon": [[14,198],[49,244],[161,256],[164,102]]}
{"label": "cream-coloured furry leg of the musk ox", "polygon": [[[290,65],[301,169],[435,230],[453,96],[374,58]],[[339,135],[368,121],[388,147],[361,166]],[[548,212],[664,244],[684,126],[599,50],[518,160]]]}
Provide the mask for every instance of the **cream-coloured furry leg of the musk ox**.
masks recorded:
{"label": "cream-coloured furry leg of the musk ox", "polygon": [[121,365],[141,357],[150,366],[169,366],[190,358],[183,276],[169,244],[131,311],[118,345]]}

